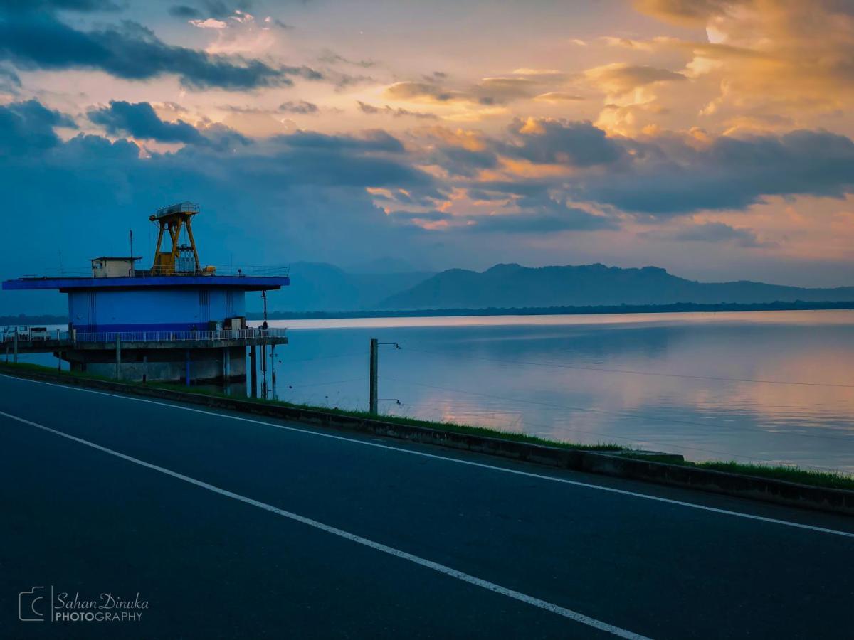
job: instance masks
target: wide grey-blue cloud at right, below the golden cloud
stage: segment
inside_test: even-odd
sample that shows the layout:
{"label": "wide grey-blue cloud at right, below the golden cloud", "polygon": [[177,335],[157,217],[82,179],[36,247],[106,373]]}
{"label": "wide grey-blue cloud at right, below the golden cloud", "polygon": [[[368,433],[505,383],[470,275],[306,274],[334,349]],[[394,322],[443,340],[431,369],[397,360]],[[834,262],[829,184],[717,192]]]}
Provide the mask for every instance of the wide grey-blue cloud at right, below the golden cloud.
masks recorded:
{"label": "wide grey-blue cloud at right, below the golden cloud", "polygon": [[[424,162],[441,166],[478,200],[558,191],[576,201],[666,218],[742,210],[772,195],[841,198],[854,191],[854,143],[828,131],[721,136],[698,143],[677,133],[635,140],[608,137],[589,122],[527,119],[514,121],[504,139],[478,134],[477,151],[453,137],[427,134],[425,140],[430,152]],[[474,179],[483,169],[501,171],[503,159],[572,172]]]}

